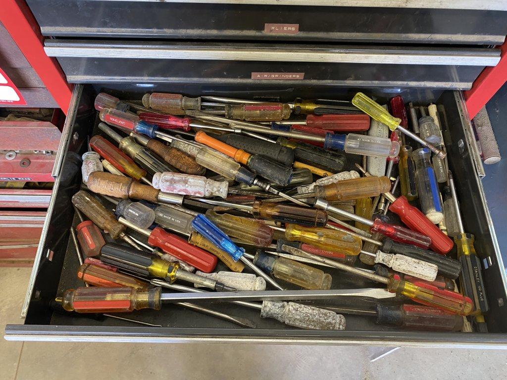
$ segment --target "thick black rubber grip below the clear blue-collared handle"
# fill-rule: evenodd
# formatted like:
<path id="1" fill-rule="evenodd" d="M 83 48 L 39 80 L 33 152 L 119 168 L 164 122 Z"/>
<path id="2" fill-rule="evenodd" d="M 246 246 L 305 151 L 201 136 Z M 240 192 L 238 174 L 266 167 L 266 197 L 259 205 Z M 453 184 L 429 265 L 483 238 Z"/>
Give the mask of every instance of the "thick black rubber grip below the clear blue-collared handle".
<path id="1" fill-rule="evenodd" d="M 332 173 L 343 171 L 347 165 L 345 155 L 304 142 L 298 143 L 294 148 L 294 159 Z"/>

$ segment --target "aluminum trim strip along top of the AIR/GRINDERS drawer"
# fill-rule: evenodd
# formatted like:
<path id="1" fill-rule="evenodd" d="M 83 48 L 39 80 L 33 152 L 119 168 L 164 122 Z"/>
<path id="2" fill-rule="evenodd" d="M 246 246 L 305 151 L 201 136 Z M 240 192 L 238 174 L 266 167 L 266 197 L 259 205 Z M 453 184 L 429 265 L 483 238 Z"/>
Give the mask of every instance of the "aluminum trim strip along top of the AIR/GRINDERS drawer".
<path id="1" fill-rule="evenodd" d="M 376 63 L 453 66 L 495 66 L 500 60 L 499 50 L 493 49 L 338 49 L 301 46 L 82 46 L 89 43 L 46 42 L 44 50 L 50 57 L 80 58 L 134 58 L 134 59 L 194 59 L 220 61 L 268 61 L 268 62 L 327 62 L 327 63 Z M 60 46 L 58 46 L 60 45 Z M 62 46 L 66 45 L 66 46 Z M 81 46 L 80 46 L 81 45 Z"/>

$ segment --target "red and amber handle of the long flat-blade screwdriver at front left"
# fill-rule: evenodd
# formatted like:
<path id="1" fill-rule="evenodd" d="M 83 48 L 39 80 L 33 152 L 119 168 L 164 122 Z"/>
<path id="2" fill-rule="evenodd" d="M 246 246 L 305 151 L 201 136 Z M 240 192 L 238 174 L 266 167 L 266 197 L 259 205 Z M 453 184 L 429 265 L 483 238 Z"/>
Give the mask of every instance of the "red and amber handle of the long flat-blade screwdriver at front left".
<path id="1" fill-rule="evenodd" d="M 137 291 L 134 288 L 83 287 L 63 293 L 62 307 L 77 313 L 129 313 L 140 309 L 160 310 L 161 288 Z"/>

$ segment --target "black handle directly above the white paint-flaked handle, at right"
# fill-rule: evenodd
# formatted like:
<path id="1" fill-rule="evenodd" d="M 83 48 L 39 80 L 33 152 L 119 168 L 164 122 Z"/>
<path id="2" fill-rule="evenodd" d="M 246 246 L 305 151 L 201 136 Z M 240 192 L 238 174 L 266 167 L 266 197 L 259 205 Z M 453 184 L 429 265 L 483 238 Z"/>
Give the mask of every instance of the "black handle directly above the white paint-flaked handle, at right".
<path id="1" fill-rule="evenodd" d="M 439 267 L 439 275 L 452 280 L 456 280 L 461 272 L 461 264 L 458 260 L 413 245 L 396 243 L 389 238 L 384 239 L 382 242 L 382 251 L 397 253 L 435 264 Z"/>

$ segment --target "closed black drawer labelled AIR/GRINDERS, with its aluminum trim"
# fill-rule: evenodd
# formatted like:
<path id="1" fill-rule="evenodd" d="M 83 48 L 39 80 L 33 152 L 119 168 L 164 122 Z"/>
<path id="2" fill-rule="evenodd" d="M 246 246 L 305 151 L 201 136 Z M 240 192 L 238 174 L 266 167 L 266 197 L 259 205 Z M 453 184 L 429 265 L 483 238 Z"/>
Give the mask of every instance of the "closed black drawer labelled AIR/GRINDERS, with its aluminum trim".
<path id="1" fill-rule="evenodd" d="M 47 40 L 71 83 L 469 89 L 497 49 Z"/>

